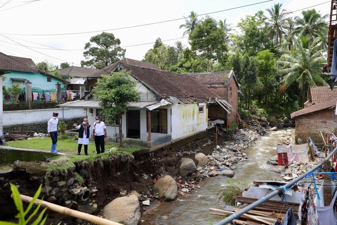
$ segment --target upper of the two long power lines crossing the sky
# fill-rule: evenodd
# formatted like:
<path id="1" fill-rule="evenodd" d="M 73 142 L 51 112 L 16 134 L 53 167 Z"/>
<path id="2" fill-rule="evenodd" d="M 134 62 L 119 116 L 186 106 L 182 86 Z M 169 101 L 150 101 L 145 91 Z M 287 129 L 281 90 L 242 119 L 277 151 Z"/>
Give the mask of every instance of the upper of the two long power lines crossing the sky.
<path id="1" fill-rule="evenodd" d="M 36 1 L 39 1 L 39 0 L 36 0 Z M 259 2 L 259 3 L 254 3 L 254 4 L 239 6 L 239 7 L 234 7 L 234 8 L 220 10 L 220 11 L 211 12 L 211 13 L 200 14 L 200 15 L 197 15 L 197 16 L 205 16 L 205 15 L 209 15 L 209 14 L 220 13 L 220 12 L 225 12 L 225 11 L 229 11 L 229 10 L 235 10 L 235 9 L 239 9 L 239 8 L 244 8 L 244 7 L 248 7 L 248 6 L 259 5 L 259 4 L 262 4 L 262 3 L 267 3 L 267 2 L 272 2 L 272 1 L 274 1 L 274 0 L 266 0 L 264 2 Z M 191 16 L 189 16 L 189 17 L 191 17 Z M 185 18 L 177 18 L 177 19 L 172 19 L 172 20 L 165 20 L 165 21 L 153 22 L 153 23 L 148 23 L 148 24 L 140 24 L 140 25 L 134 25 L 134 26 L 129 26 L 129 27 L 120 27 L 120 28 L 112 28 L 112 29 L 106 29 L 106 30 L 75 32 L 75 33 L 62 33 L 62 34 L 12 34 L 12 33 L 3 33 L 3 34 L 7 34 L 7 35 L 22 35 L 22 36 L 58 36 L 58 35 L 88 34 L 88 33 L 97 33 L 97 32 L 103 32 L 103 31 L 113 31 L 113 30 L 122 30 L 122 29 L 129 29 L 129 28 L 135 28 L 135 27 L 143 27 L 143 26 L 148 26 L 148 25 L 153 25 L 153 24 L 167 23 L 167 22 L 172 22 L 172 21 L 177 21 L 177 20 L 185 20 Z"/>

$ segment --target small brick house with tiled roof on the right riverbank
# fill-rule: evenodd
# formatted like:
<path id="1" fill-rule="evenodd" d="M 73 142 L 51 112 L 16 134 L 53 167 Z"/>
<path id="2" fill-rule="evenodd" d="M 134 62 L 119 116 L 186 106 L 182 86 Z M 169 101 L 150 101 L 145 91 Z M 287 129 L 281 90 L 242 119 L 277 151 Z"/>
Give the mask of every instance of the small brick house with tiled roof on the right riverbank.
<path id="1" fill-rule="evenodd" d="M 309 100 L 306 107 L 293 112 L 290 117 L 295 119 L 295 139 L 297 143 L 306 142 L 308 137 L 315 143 L 322 143 L 323 137 L 337 133 L 336 88 L 310 87 Z"/>

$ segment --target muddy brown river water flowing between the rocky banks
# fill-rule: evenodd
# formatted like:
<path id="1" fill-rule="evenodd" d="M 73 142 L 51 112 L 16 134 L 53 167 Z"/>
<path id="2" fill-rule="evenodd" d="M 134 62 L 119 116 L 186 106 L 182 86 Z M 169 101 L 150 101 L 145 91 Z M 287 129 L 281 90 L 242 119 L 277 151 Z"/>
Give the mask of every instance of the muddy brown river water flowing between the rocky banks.
<path id="1" fill-rule="evenodd" d="M 236 164 L 233 181 L 279 180 L 279 174 L 269 171 L 274 166 L 266 162 L 277 154 L 276 145 L 283 143 L 285 136 L 289 136 L 286 130 L 267 132 L 247 148 L 248 160 Z M 160 203 L 150 212 L 145 211 L 139 224 L 214 224 L 221 218 L 209 215 L 209 208 L 224 208 L 216 190 L 226 184 L 227 178 L 223 176 L 207 178 L 189 196 L 180 196 L 173 202 Z"/>

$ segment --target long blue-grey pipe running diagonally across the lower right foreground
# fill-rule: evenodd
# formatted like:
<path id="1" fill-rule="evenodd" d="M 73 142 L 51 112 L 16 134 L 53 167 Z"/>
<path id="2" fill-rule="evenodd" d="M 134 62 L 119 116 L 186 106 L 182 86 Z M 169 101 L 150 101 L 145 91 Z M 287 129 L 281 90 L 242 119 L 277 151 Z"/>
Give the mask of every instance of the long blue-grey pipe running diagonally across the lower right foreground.
<path id="1" fill-rule="evenodd" d="M 317 164 L 314 168 L 312 168 L 311 170 L 307 171 L 306 173 L 302 174 L 301 176 L 297 177 L 296 179 L 294 179 L 293 181 L 287 183 L 286 185 L 282 186 L 284 188 L 290 188 L 292 187 L 294 184 L 296 184 L 298 181 L 302 180 L 303 178 L 305 178 L 308 174 L 311 174 L 313 171 L 317 170 L 318 168 L 320 168 L 323 163 L 327 162 L 332 156 L 333 154 L 335 154 L 337 151 L 337 147 L 335 147 L 333 149 L 333 151 L 330 153 L 330 155 L 328 155 L 324 160 L 322 160 L 319 164 Z M 272 193 L 266 195 L 263 198 L 260 198 L 259 200 L 257 200 L 254 203 L 251 203 L 250 205 L 248 205 L 247 207 L 241 209 L 238 212 L 235 212 L 233 214 L 231 214 L 230 216 L 226 217 L 225 219 L 222 219 L 221 221 L 215 223 L 215 225 L 223 225 L 223 224 L 227 224 L 228 222 L 231 222 L 233 219 L 237 219 L 240 215 L 248 212 L 251 209 L 254 209 L 255 207 L 257 207 L 258 205 L 261 205 L 262 203 L 264 203 L 265 201 L 267 201 L 268 199 L 274 197 L 275 195 L 278 195 L 280 193 L 280 190 L 275 190 Z"/>

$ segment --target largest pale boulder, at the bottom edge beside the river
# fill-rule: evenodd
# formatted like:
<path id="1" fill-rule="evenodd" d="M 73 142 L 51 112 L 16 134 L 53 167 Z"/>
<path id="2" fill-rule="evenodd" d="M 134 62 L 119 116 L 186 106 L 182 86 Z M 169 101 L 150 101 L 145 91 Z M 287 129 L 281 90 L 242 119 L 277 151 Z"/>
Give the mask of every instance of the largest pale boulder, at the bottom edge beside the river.
<path id="1" fill-rule="evenodd" d="M 140 205 L 137 196 L 115 198 L 107 204 L 103 213 L 106 219 L 127 225 L 137 225 L 140 219 Z"/>

